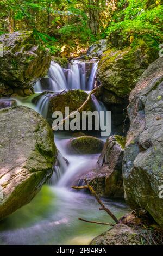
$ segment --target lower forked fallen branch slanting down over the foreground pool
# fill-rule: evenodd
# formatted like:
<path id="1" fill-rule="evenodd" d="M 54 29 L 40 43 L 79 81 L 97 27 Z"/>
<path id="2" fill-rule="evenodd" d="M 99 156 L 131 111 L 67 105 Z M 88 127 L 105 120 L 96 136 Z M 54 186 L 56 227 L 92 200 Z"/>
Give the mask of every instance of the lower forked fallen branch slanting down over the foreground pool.
<path id="1" fill-rule="evenodd" d="M 116 224 L 120 223 L 118 221 L 118 219 L 116 218 L 116 216 L 108 209 L 106 208 L 106 206 L 103 204 L 103 202 L 100 200 L 99 196 L 96 194 L 95 190 L 93 190 L 92 186 L 89 184 L 89 182 L 87 182 L 87 180 L 84 180 L 86 185 L 85 186 L 72 186 L 72 188 L 74 188 L 75 190 L 81 190 L 81 189 L 85 189 L 88 188 L 91 192 L 91 194 L 93 194 L 93 196 L 96 198 L 97 202 L 102 206 L 101 208 L 99 208 L 99 210 L 104 210 L 107 212 L 107 214 L 110 215 L 110 217 L 115 221 Z"/>

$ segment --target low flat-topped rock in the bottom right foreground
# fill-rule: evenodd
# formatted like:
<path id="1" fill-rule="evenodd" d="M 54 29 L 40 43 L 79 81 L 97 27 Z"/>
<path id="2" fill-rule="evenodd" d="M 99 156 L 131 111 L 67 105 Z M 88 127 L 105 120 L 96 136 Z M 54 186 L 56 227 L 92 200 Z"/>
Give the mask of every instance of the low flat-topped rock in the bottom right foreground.
<path id="1" fill-rule="evenodd" d="M 110 230 L 95 237 L 90 245 L 149 245 L 150 231 L 124 224 L 117 224 Z"/>

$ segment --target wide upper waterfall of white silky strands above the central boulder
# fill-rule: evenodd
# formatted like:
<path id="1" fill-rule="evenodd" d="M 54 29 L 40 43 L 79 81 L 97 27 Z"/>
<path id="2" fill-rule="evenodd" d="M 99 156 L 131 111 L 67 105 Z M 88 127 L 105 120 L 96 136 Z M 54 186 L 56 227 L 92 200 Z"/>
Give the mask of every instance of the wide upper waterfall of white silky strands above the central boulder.
<path id="1" fill-rule="evenodd" d="M 72 61 L 68 69 L 61 68 L 58 63 L 51 62 L 48 72 L 47 86 L 42 86 L 41 81 L 34 86 L 35 93 L 40 93 L 45 90 L 59 92 L 65 89 L 81 89 L 92 90 L 95 84 L 97 62 L 91 63 L 91 71 L 89 77 L 86 77 L 86 63 Z"/>

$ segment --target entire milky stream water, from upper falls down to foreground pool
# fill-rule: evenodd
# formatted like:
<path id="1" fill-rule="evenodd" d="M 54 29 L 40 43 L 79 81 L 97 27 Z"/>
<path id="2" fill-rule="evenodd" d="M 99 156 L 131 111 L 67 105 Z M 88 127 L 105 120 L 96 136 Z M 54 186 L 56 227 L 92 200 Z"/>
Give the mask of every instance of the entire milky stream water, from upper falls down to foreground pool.
<path id="1" fill-rule="evenodd" d="M 32 99 L 45 90 L 58 92 L 65 89 L 90 91 L 95 83 L 97 63 L 92 64 L 89 77 L 86 64 L 74 61 L 68 69 L 62 69 L 52 62 L 48 82 L 37 82 L 35 94 L 25 99 L 14 98 L 17 105 L 35 109 L 46 117 L 48 97 L 43 95 L 37 105 Z M 106 111 L 95 96 L 92 101 L 97 111 Z M 109 226 L 79 221 L 85 218 L 92 221 L 112 222 L 104 211 L 99 211 L 96 199 L 89 193 L 71 190 L 77 174 L 95 168 L 99 154 L 72 155 L 68 153 L 68 141 L 72 136 L 65 132 L 55 133 L 55 144 L 59 150 L 57 164 L 52 178 L 28 205 L 23 206 L 0 222 L 1 245 L 88 245 L 93 237 L 108 230 Z M 121 200 L 103 199 L 117 218 L 129 211 Z"/>

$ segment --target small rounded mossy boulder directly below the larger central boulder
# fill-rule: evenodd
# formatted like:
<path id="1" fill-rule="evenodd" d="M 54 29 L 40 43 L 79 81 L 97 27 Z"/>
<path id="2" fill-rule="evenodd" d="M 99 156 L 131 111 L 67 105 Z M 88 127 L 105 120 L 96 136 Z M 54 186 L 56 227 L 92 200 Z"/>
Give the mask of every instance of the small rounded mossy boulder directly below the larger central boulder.
<path id="1" fill-rule="evenodd" d="M 101 153 L 104 142 L 93 136 L 79 136 L 70 139 L 69 148 L 74 154 Z"/>

